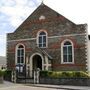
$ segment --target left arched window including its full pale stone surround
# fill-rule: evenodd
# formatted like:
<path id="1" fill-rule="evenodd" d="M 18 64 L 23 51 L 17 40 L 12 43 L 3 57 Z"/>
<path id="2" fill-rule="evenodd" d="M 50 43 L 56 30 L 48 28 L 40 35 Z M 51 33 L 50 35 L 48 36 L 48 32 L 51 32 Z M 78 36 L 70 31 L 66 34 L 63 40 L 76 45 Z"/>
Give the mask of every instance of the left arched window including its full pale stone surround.
<path id="1" fill-rule="evenodd" d="M 15 63 L 16 64 L 24 64 L 25 62 L 25 45 L 19 43 L 15 48 Z"/>

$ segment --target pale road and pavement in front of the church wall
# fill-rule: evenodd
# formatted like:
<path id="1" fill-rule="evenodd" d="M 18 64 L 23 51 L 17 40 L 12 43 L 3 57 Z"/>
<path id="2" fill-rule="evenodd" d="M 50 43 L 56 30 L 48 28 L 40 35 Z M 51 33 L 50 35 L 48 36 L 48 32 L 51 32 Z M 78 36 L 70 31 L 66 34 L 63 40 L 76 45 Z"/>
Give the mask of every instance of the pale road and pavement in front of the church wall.
<path id="1" fill-rule="evenodd" d="M 45 84 L 14 84 L 5 81 L 4 84 L 0 84 L 0 90 L 90 90 L 90 87 Z"/>

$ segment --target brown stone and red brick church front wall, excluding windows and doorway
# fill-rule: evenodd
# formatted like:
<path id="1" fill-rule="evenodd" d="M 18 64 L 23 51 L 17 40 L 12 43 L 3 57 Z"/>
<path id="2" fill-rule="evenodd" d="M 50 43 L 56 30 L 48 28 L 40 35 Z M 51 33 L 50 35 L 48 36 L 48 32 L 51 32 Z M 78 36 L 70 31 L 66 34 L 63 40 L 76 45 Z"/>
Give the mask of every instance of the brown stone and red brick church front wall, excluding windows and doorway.
<path id="1" fill-rule="evenodd" d="M 44 16 L 44 19 L 39 20 L 41 16 Z M 37 33 L 40 30 L 47 32 L 46 48 L 37 47 Z M 61 44 L 64 40 L 73 43 L 73 64 L 61 63 Z M 35 55 L 42 59 L 42 70 L 87 70 L 86 24 L 76 25 L 44 4 L 40 5 L 15 32 L 7 34 L 8 69 L 15 69 L 16 46 L 20 43 L 25 46 L 25 60 L 29 61 L 27 66 L 30 70 L 33 70 L 32 62 Z"/>

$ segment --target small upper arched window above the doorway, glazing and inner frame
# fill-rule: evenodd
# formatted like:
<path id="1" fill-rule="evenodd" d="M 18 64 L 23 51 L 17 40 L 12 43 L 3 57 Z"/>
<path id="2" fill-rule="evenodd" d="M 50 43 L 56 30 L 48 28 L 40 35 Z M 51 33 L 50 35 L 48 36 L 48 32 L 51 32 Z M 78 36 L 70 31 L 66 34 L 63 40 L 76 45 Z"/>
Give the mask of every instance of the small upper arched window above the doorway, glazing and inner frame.
<path id="1" fill-rule="evenodd" d="M 47 34 L 44 31 L 38 34 L 38 46 L 40 48 L 45 48 L 47 46 Z"/>

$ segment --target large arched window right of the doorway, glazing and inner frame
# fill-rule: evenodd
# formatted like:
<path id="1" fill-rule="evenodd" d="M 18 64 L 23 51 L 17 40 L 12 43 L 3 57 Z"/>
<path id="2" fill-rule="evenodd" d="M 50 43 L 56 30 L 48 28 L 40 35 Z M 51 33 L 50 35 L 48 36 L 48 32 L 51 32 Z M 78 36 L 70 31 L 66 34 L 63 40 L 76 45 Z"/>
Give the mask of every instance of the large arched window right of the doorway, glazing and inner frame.
<path id="1" fill-rule="evenodd" d="M 74 63 L 73 43 L 67 40 L 61 46 L 62 63 Z"/>

